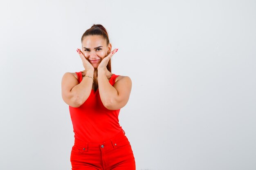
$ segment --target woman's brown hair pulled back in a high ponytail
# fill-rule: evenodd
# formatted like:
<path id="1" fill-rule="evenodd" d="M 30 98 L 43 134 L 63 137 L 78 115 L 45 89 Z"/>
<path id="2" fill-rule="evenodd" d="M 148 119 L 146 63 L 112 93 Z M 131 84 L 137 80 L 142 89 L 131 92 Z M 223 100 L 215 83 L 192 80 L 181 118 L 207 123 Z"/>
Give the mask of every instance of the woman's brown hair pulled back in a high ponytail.
<path id="1" fill-rule="evenodd" d="M 86 30 L 82 35 L 81 42 L 83 42 L 83 38 L 87 35 L 101 35 L 106 40 L 107 46 L 109 44 L 108 32 L 101 24 L 93 24 L 90 29 Z M 107 69 L 111 72 L 111 58 L 108 61 Z"/>

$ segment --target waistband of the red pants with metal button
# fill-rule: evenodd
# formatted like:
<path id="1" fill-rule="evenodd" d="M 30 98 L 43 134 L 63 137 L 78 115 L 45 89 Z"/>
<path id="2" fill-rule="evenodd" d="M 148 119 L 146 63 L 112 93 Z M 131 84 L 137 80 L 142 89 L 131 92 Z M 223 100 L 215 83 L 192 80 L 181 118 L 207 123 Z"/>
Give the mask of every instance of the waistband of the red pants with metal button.
<path id="1" fill-rule="evenodd" d="M 93 144 L 88 143 L 85 141 L 82 141 L 81 139 L 75 138 L 74 140 L 74 146 L 79 149 L 83 149 L 85 151 L 89 150 L 100 150 L 101 148 L 115 148 L 116 143 L 119 141 L 128 140 L 128 138 L 125 135 L 125 131 L 122 129 L 120 132 L 117 133 L 114 137 L 112 137 L 110 140 L 102 142 L 100 144 Z"/>

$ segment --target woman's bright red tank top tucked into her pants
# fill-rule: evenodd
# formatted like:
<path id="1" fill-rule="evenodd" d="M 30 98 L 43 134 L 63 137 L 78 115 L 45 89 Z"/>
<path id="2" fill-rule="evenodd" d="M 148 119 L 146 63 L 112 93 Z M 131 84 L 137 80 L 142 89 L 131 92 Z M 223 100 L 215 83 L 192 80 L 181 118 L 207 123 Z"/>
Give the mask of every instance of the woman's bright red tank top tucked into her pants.
<path id="1" fill-rule="evenodd" d="M 82 81 L 82 71 L 76 72 L 78 82 Z M 113 74 L 109 83 L 113 86 L 119 75 Z M 99 144 L 115 136 L 122 130 L 119 124 L 119 110 L 108 110 L 101 102 L 99 88 L 92 89 L 88 99 L 78 108 L 69 106 L 74 138 Z"/>

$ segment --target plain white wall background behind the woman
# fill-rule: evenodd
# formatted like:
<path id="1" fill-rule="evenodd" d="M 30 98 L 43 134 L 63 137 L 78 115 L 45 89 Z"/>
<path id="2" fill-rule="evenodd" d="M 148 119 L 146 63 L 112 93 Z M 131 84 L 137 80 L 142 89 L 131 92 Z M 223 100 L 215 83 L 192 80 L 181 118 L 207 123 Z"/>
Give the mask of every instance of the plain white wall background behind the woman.
<path id="1" fill-rule="evenodd" d="M 119 123 L 137 170 L 256 169 L 254 0 L 0 2 L 0 169 L 71 170 L 61 97 L 81 36 L 109 33 L 132 79 Z"/>

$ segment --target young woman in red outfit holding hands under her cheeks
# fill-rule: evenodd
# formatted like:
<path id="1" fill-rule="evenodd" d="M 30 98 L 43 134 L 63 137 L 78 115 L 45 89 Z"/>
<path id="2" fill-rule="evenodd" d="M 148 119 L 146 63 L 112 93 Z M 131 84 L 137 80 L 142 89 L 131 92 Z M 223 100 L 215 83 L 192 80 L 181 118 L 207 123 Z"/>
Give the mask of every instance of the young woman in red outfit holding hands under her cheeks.
<path id="1" fill-rule="evenodd" d="M 83 33 L 77 49 L 85 70 L 65 73 L 62 98 L 69 105 L 74 129 L 72 170 L 135 170 L 135 158 L 119 124 L 119 111 L 130 97 L 132 81 L 111 73 L 108 33 L 101 24 Z"/>

